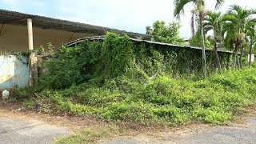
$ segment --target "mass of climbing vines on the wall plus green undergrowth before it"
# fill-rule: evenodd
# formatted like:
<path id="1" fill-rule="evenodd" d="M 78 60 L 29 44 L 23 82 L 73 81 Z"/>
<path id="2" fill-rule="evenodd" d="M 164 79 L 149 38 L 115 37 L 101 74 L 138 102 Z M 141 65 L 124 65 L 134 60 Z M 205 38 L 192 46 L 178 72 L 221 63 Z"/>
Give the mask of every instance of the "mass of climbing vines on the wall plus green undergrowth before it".
<path id="1" fill-rule="evenodd" d="M 143 125 L 223 124 L 245 106 L 254 106 L 256 69 L 226 70 L 204 80 L 193 75 L 185 79 L 177 71 L 182 76 L 193 73 L 178 58 L 186 59 L 183 54 L 188 53 L 191 59 L 187 62 L 195 60 L 192 64 L 197 67 L 196 62 L 202 62 L 198 61 L 201 50 L 186 49 L 182 56 L 172 57 L 178 51 L 185 50 L 147 47 L 126 36 L 108 34 L 103 42 L 62 48 L 46 62 L 47 72 L 38 87 L 18 93 L 36 94 L 24 103 L 27 109 Z M 228 59 L 229 55 L 224 58 Z"/>

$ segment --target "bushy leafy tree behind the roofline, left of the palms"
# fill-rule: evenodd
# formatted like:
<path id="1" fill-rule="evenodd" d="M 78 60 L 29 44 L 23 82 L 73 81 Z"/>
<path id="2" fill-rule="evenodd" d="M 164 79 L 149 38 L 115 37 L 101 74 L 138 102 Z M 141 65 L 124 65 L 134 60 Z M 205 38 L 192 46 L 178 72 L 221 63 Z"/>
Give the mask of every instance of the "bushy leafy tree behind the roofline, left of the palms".
<path id="1" fill-rule="evenodd" d="M 179 37 L 180 24 L 178 22 L 156 21 L 153 26 L 146 26 L 146 34 L 154 36 L 153 41 L 184 45 L 184 39 Z"/>

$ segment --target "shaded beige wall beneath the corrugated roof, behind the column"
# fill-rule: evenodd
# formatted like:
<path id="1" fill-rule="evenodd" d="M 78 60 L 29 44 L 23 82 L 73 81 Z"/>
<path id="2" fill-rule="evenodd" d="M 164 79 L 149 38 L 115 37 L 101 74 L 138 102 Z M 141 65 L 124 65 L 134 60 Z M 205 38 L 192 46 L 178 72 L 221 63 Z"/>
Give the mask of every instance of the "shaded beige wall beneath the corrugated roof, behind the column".
<path id="1" fill-rule="evenodd" d="M 0 29 L 1 27 L 2 24 L 0 24 Z M 33 27 L 33 33 L 34 49 L 41 45 L 46 48 L 47 42 L 52 42 L 56 48 L 59 48 L 66 42 L 70 42 L 78 38 L 95 36 L 95 34 L 72 33 L 68 31 L 42 29 L 37 27 Z M 0 51 L 29 50 L 27 37 L 26 26 L 4 24 L 0 34 Z"/>

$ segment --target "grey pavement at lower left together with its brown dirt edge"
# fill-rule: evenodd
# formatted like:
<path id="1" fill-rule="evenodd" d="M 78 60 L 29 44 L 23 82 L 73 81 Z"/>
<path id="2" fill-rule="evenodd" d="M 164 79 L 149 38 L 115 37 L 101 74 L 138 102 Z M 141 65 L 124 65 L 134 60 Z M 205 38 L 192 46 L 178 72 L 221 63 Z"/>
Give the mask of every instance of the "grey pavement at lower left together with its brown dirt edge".
<path id="1" fill-rule="evenodd" d="M 39 114 L 28 117 L 18 110 L 20 107 L 0 103 L 0 144 L 50 144 L 55 138 L 71 134 L 66 127 L 38 120 Z"/>

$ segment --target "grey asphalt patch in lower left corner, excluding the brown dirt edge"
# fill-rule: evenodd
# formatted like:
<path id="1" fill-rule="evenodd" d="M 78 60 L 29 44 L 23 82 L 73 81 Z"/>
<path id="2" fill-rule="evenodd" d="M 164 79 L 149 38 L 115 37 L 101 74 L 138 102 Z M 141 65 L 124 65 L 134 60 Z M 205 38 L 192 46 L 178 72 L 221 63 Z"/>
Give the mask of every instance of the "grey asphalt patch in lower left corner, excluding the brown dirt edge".
<path id="1" fill-rule="evenodd" d="M 0 118 L 1 144 L 49 144 L 54 138 L 69 135 L 65 128 L 36 120 Z"/>

